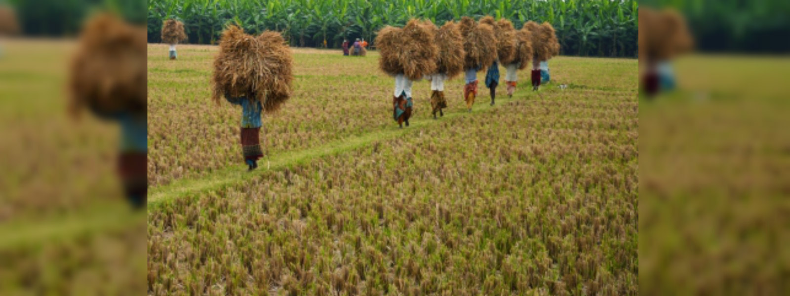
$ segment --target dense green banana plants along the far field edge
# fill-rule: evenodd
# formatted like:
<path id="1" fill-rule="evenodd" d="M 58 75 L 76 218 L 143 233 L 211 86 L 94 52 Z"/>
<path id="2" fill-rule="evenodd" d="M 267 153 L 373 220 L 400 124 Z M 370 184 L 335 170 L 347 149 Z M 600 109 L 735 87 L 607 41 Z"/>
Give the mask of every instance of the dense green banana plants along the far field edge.
<path id="1" fill-rule="evenodd" d="M 409 19 L 435 24 L 491 15 L 513 21 L 547 21 L 562 54 L 634 57 L 638 41 L 636 0 L 149 0 L 149 43 L 160 42 L 164 20 L 183 21 L 189 43 L 214 44 L 227 24 L 246 32 L 278 31 L 295 47 L 340 47 L 343 39 L 372 43 L 378 29 Z M 375 44 L 372 44 L 375 46 Z"/>

